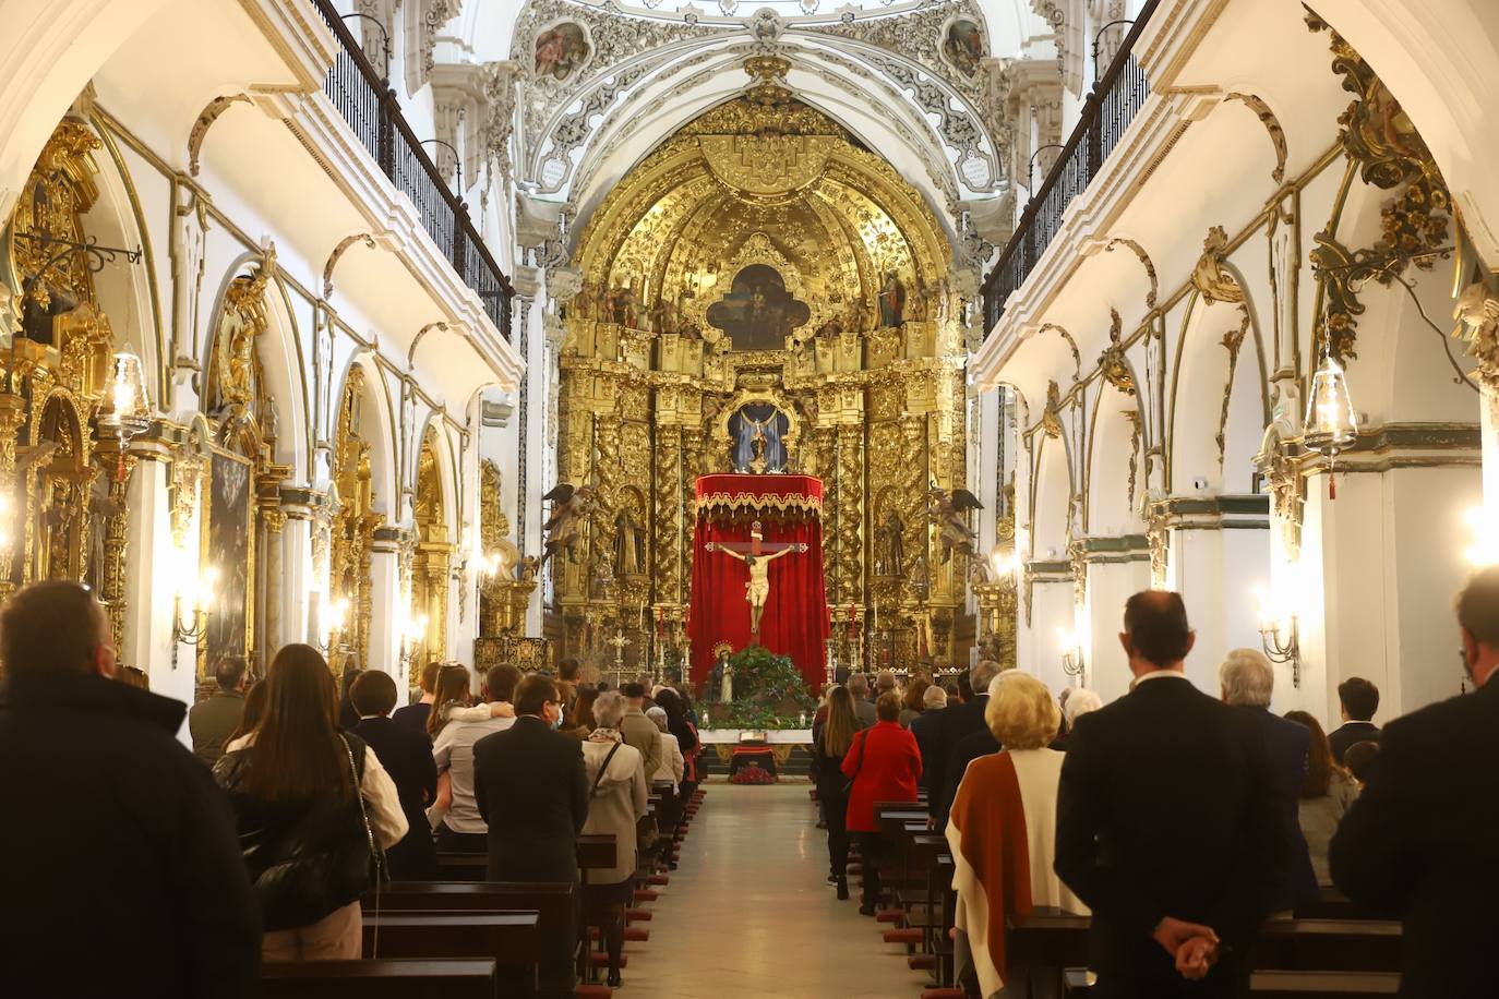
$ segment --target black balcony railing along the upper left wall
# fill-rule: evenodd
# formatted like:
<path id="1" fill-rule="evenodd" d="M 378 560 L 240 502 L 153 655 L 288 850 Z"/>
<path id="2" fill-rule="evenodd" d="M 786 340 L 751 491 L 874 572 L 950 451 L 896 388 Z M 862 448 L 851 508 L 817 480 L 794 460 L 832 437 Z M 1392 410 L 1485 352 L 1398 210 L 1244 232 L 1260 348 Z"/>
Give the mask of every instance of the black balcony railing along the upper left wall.
<path id="1" fill-rule="evenodd" d="M 331 0 L 313 1 L 342 46 L 322 82 L 328 99 L 354 129 L 364 150 L 379 163 L 381 172 L 396 190 L 411 198 L 427 235 L 463 283 L 484 303 L 484 312 L 495 327 L 510 340 L 510 297 L 514 294 L 510 279 L 490 256 L 469 219 L 468 207 L 448 190 L 442 174 L 402 117 L 396 93 L 366 58 Z"/>

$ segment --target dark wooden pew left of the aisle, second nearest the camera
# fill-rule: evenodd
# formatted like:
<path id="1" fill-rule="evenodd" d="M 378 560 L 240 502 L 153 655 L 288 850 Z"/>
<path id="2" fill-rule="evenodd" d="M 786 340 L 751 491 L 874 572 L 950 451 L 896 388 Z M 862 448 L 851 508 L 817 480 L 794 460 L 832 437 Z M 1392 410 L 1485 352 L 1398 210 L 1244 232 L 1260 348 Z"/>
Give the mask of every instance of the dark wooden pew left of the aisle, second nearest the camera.
<path id="1" fill-rule="evenodd" d="M 537 912 L 370 914 L 364 917 L 364 956 L 487 959 L 495 962 L 501 993 L 532 996 L 541 960 L 541 917 Z"/>

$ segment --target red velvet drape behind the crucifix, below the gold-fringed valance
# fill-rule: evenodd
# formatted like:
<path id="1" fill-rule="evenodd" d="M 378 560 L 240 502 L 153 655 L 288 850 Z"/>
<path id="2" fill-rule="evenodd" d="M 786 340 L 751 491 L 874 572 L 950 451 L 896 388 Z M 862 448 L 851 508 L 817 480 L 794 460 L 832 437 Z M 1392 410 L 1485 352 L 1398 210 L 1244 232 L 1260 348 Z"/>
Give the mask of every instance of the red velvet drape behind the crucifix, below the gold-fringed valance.
<path id="1" fill-rule="evenodd" d="M 727 641 L 739 652 L 750 644 L 750 602 L 745 584 L 750 568 L 723 551 L 706 551 L 709 541 L 750 544 L 750 517 L 715 517 L 703 511 L 693 535 L 693 602 L 688 637 L 693 641 L 693 681 L 702 683 L 714 668 L 714 647 Z M 779 656 L 790 656 L 808 689 L 823 686 L 827 638 L 827 599 L 823 593 L 823 526 L 817 515 L 761 520 L 764 541 L 805 542 L 770 563 L 770 596 L 760 619 L 760 643 Z"/>

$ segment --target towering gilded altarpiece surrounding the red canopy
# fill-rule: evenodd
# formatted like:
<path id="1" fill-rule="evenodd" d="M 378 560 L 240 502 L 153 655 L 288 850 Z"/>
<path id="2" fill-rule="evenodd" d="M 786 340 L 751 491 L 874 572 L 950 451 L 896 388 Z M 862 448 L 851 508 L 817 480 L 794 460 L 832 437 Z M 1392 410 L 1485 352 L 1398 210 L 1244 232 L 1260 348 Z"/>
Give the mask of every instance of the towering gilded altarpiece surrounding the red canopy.
<path id="1" fill-rule="evenodd" d="M 961 661 L 967 559 L 944 560 L 928 514 L 929 488 L 965 484 L 950 244 L 884 159 L 794 99 L 785 60 L 745 67 L 750 88 L 636 165 L 579 237 L 559 481 L 595 493 L 550 563 L 562 655 L 681 652 L 696 478 L 754 470 L 730 422 L 773 412 L 781 467 L 823 481 L 838 661 Z"/>

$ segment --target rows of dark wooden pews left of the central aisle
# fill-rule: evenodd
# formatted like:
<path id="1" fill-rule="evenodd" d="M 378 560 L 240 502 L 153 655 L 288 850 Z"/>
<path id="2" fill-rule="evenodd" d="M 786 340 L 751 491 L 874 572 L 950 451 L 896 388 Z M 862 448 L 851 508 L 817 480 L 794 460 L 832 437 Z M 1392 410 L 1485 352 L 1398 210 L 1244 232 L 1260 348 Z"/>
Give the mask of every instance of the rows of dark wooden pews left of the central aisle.
<path id="1" fill-rule="evenodd" d="M 649 939 L 637 923 L 651 918 L 645 902 L 667 884 L 694 801 L 681 801 L 670 783 L 651 791 L 642 819 L 636 908 L 625 939 Z M 649 833 L 651 836 L 646 836 Z M 579 872 L 616 866 L 613 836 L 580 836 Z M 346 962 L 270 962 L 261 969 L 267 999 L 609 999 L 597 984 L 607 966 L 598 914 L 583 909 L 574 885 L 484 881 L 487 861 L 474 854 L 439 854 L 439 881 L 390 882 L 363 899 L 364 957 Z M 570 932 L 568 927 L 576 927 Z M 598 941 L 595 950 L 594 942 Z M 583 984 L 579 984 L 579 983 Z"/>

